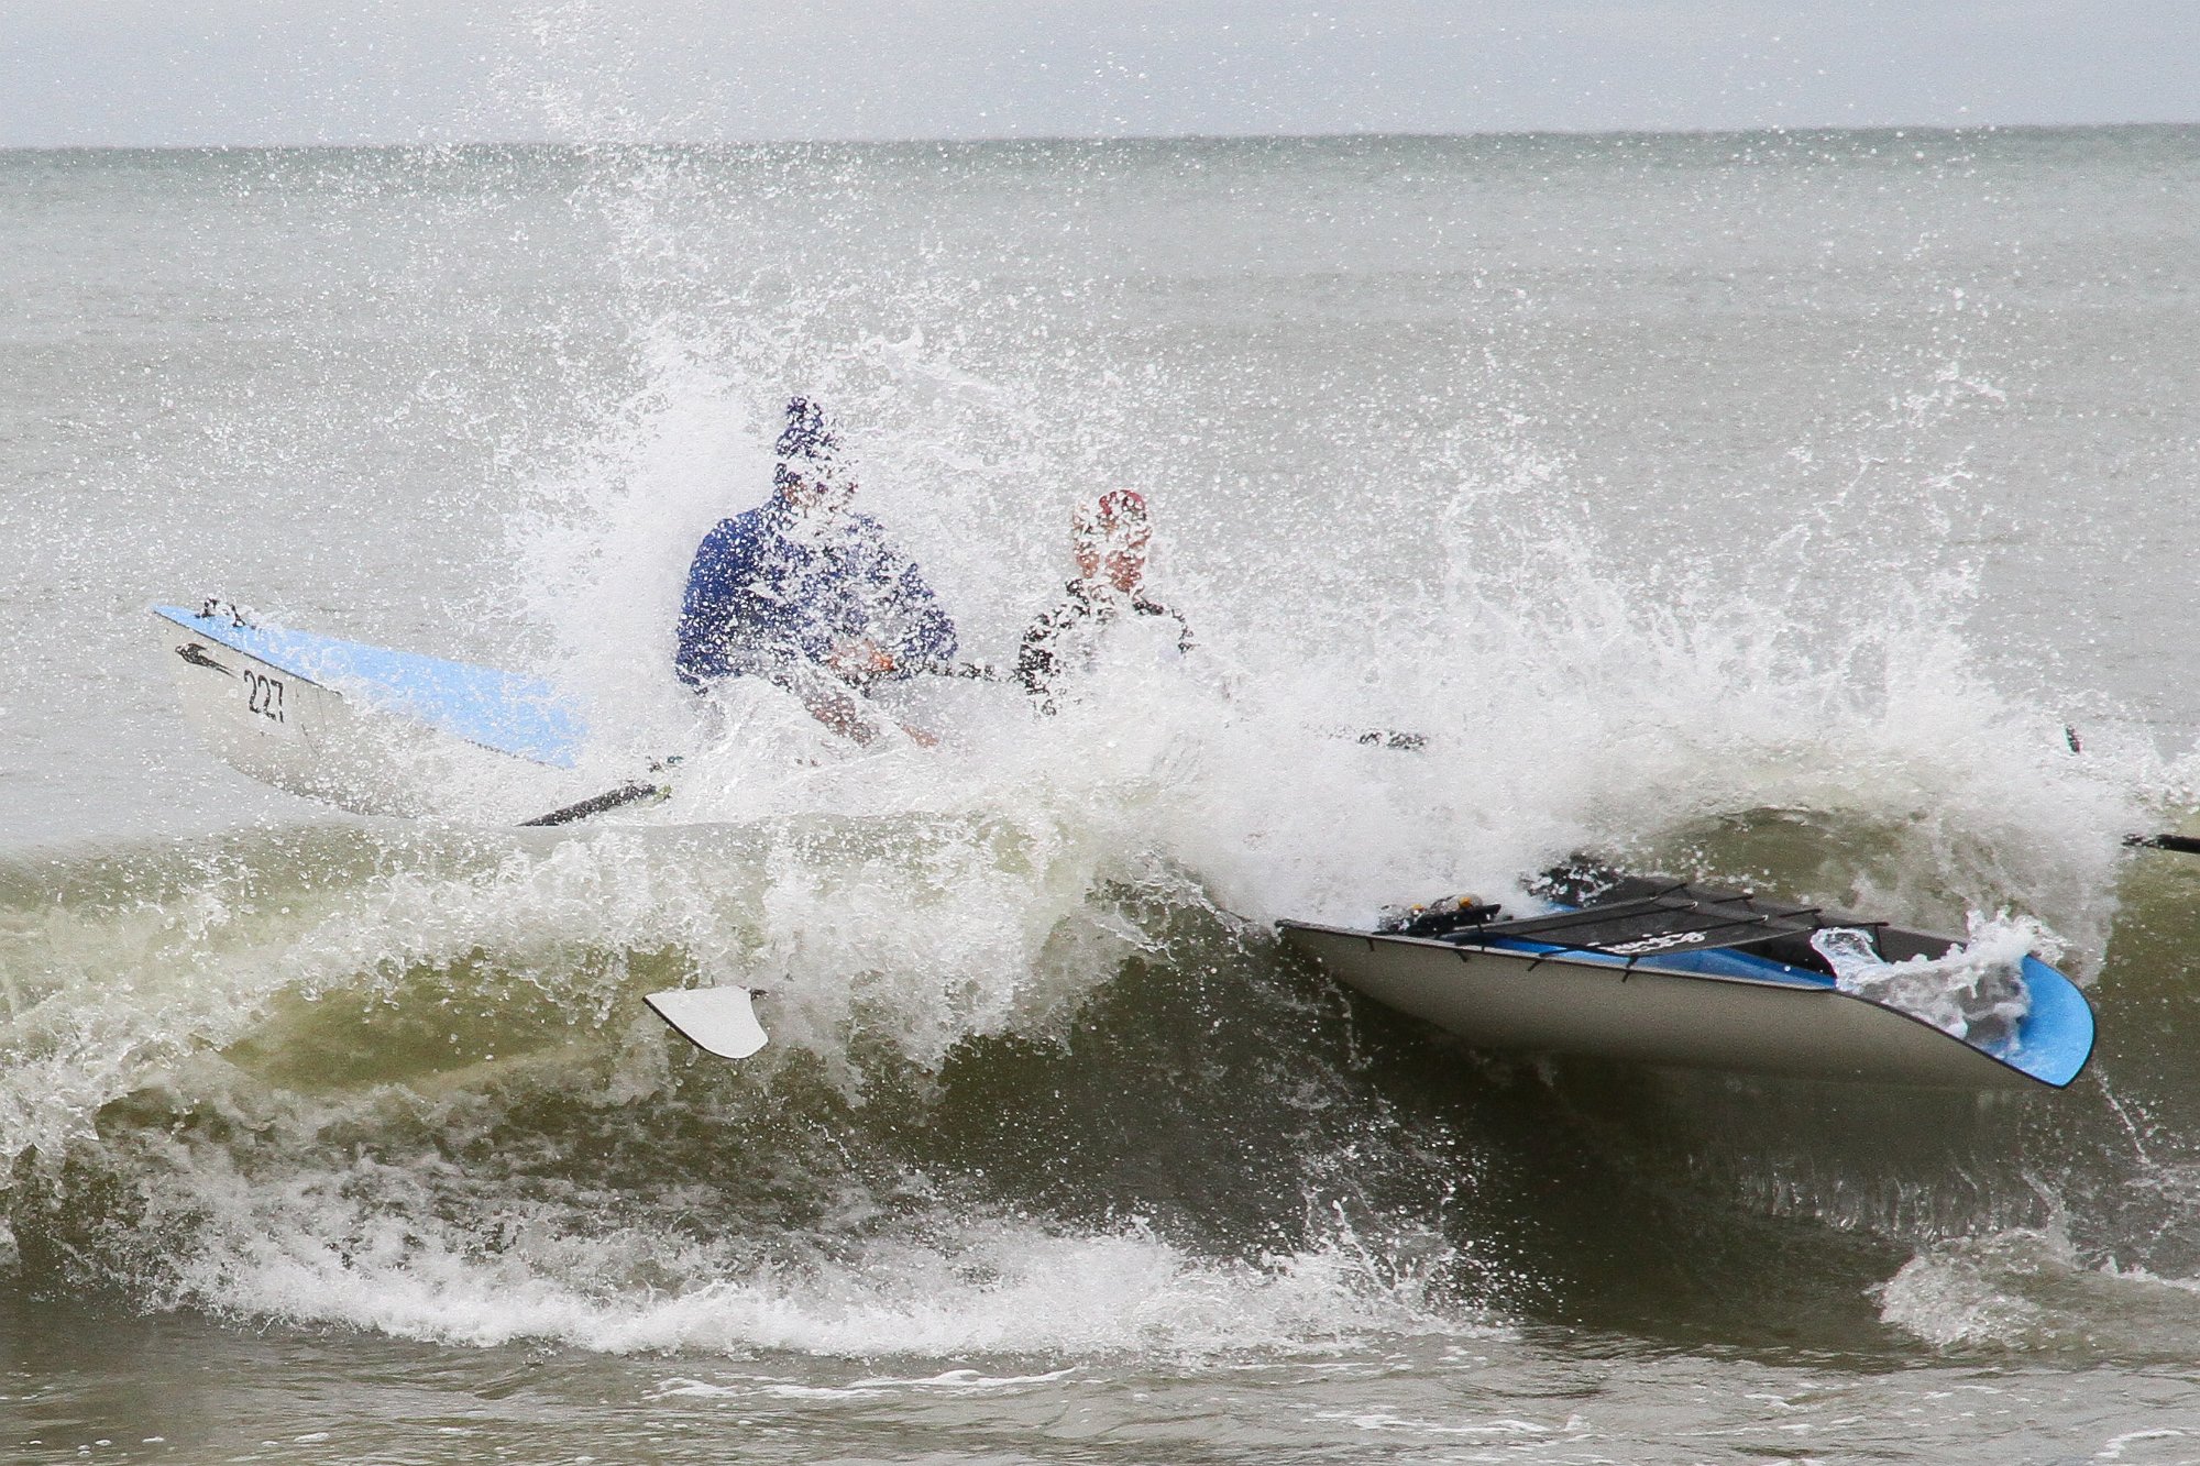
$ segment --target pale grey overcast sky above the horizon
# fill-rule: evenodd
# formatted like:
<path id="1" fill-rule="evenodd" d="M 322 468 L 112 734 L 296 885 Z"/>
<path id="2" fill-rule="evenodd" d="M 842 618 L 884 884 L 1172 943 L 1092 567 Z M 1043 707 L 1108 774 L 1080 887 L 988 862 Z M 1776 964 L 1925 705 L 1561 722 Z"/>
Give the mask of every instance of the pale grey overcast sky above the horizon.
<path id="1" fill-rule="evenodd" d="M 0 0 L 0 145 L 2200 121 L 2200 0 Z"/>

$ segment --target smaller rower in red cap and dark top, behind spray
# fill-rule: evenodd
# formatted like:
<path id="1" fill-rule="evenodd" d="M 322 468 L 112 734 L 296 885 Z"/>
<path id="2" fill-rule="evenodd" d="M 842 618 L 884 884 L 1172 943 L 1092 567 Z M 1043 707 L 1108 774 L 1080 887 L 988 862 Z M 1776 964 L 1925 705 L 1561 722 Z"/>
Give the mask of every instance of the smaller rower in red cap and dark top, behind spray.
<path id="1" fill-rule="evenodd" d="M 1192 649 L 1184 616 L 1146 594 L 1146 546 L 1153 524 L 1146 500 L 1135 489 L 1102 493 L 1098 504 L 1078 506 L 1071 517 L 1071 550 L 1078 579 L 1063 599 L 1041 612 L 1016 647 L 1016 680 L 1038 700 L 1038 711 L 1056 709 L 1058 682 L 1091 671 L 1100 638 L 1109 627 L 1153 616 L 1175 627 L 1177 652 Z"/>

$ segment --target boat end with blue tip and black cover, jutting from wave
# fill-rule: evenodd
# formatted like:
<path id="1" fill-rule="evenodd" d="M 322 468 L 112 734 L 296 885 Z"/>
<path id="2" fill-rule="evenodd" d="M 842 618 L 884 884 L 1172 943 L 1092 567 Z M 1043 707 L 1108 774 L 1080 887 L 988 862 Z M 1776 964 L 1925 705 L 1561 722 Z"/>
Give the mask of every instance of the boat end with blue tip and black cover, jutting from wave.
<path id="1" fill-rule="evenodd" d="M 1621 876 L 1511 920 L 1465 905 L 1278 929 L 1360 993 L 1489 1050 L 1956 1090 L 2061 1090 L 2092 1054 L 2092 1008 L 2037 955 L 1987 973 L 1956 938 L 1740 889 Z M 1940 977 L 1993 1002 L 1949 1019 L 1894 997 Z"/>

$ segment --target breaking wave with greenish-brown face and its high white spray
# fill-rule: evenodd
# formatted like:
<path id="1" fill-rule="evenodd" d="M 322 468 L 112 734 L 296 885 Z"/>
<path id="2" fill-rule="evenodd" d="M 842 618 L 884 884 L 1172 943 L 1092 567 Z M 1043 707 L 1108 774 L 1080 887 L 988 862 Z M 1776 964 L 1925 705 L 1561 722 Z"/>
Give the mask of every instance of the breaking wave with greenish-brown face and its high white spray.
<path id="1" fill-rule="evenodd" d="M 2189 891 L 2134 887 L 2119 847 L 2176 770 L 2112 718 L 2072 753 L 1969 630 L 1954 530 L 1991 381 L 1859 368 L 1896 405 L 1789 445 L 1760 497 L 1811 513 L 1731 533 L 1725 495 L 1630 504 L 1650 486 L 1551 447 L 1558 383 L 1529 363 L 1564 326 L 1474 269 L 1445 275 L 1467 337 L 1399 352 L 1346 282 L 1318 350 L 1274 343 L 1318 262 L 1089 264 L 1109 231 L 1133 258 L 1166 236 L 1122 200 L 1170 158 L 1049 154 L 1056 192 L 933 207 L 972 156 L 495 156 L 607 264 L 554 370 L 449 387 L 519 486 L 482 491 L 504 544 L 427 616 L 466 647 L 420 649 L 541 667 L 598 766 L 680 753 L 673 797 L 521 834 L 438 788 L 418 825 L 0 867 L 22 1279 L 447 1343 L 1212 1356 L 1654 1330 L 1652 1283 L 1762 1312 L 1718 1301 L 1725 1248 L 1780 1257 L 1844 1327 L 2026 1347 L 2061 1325 L 1962 1239 L 2059 1211 L 2068 1277 L 2178 1308 L 2191 1222 L 2127 1184 L 2193 1134 L 2171 1043 L 2108 1026 L 2108 1083 L 2053 1114 L 1522 1068 L 1267 933 L 1522 902 L 1595 850 L 1903 925 L 2006 911 L 2081 980 L 2158 973 L 2145 997 L 2187 1004 L 2163 953 Z M 1212 167 L 1263 196 L 1265 156 Z M 1019 253 L 1019 209 L 1085 231 L 1082 262 Z M 488 403 L 499 372 L 563 407 Z M 1199 649 L 1102 665 L 1045 720 L 935 689 L 913 715 L 939 748 L 697 704 L 667 676 L 686 557 L 761 497 L 794 390 L 847 425 L 865 506 L 972 658 L 1008 660 L 1067 575 L 1069 506 L 1118 484 L 1155 506 L 1155 583 Z M 640 1006 L 728 982 L 766 993 L 744 1065 Z M 1877 1305 L 1859 1272 L 1892 1279 Z"/>

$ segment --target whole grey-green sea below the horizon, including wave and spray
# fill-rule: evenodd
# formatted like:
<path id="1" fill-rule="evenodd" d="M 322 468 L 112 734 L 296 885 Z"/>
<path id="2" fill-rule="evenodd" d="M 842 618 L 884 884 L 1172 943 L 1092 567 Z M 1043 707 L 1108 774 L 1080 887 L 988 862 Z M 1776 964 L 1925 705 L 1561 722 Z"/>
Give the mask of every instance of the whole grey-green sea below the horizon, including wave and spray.
<path id="1" fill-rule="evenodd" d="M 2193 801 L 2196 192 L 2191 128 L 0 154 L 0 1453 L 2200 1459 L 2200 861 L 2121 847 Z M 1199 649 L 939 748 L 704 715 L 790 392 L 968 656 L 1109 486 Z M 202 594 L 675 795 L 255 786 Z M 1573 850 L 2037 920 L 2097 1061 L 1516 1063 L 1272 933 Z"/>

